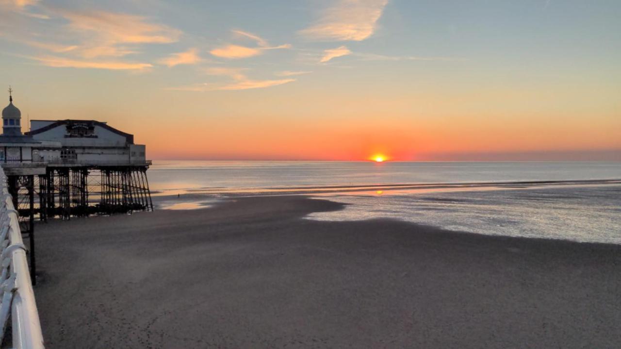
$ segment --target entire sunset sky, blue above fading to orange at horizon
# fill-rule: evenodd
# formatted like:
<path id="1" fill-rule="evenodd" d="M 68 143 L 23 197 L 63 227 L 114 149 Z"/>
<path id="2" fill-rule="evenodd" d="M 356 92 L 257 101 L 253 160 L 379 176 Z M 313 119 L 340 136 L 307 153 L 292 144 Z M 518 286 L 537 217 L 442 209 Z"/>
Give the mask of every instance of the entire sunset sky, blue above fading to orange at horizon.
<path id="1" fill-rule="evenodd" d="M 152 159 L 621 160 L 619 18 L 617 0 L 0 0 L 0 86 L 23 119 L 106 121 Z"/>

